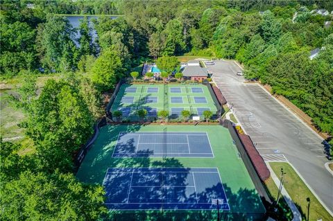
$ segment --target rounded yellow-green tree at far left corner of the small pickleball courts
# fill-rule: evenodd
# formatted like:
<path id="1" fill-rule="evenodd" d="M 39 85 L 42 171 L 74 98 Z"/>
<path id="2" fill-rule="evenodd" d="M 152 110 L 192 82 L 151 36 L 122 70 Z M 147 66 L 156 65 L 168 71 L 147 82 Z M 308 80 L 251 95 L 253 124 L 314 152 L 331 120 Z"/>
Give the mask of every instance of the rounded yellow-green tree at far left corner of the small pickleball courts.
<path id="1" fill-rule="evenodd" d="M 112 89 L 123 76 L 121 59 L 116 51 L 105 50 L 92 67 L 92 82 L 100 91 Z"/>

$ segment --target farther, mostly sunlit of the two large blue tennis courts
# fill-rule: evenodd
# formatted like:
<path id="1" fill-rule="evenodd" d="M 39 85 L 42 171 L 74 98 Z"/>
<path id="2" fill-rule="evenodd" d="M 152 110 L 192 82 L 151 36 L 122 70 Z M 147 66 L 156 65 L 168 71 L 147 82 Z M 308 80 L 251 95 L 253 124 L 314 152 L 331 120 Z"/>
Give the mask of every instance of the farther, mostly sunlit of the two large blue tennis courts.
<path id="1" fill-rule="evenodd" d="M 120 132 L 112 157 L 214 157 L 206 132 Z"/>

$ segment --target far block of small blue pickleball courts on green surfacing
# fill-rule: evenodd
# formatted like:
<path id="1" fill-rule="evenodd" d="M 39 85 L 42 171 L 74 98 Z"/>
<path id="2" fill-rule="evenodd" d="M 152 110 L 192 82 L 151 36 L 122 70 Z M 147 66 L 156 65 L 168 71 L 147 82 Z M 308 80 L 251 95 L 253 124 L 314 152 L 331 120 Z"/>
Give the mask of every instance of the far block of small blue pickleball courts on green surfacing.
<path id="1" fill-rule="evenodd" d="M 217 108 L 205 85 L 121 85 L 111 112 L 119 109 L 123 118 L 137 120 L 137 111 L 146 108 L 148 116 L 167 110 L 171 118 L 181 116 L 182 109 L 201 116 L 205 109 L 216 114 Z M 151 112 L 149 114 L 149 112 Z"/>

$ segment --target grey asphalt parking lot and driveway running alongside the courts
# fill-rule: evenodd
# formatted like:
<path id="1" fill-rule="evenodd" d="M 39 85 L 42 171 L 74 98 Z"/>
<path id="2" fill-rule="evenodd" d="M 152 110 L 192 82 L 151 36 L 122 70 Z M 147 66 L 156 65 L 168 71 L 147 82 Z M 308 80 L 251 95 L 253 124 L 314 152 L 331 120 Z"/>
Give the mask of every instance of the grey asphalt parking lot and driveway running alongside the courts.
<path id="1" fill-rule="evenodd" d="M 289 161 L 332 214 L 333 176 L 324 166 L 323 139 L 260 85 L 244 84 L 236 63 L 216 61 L 207 67 L 264 160 Z"/>

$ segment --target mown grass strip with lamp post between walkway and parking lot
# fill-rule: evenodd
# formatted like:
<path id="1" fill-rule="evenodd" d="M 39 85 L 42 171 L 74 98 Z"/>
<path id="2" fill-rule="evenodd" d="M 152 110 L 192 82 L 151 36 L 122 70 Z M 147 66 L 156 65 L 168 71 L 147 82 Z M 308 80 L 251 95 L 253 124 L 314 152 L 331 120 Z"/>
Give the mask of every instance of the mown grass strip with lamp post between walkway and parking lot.
<path id="1" fill-rule="evenodd" d="M 298 206 L 303 220 L 307 218 L 307 197 L 310 198 L 311 202 L 309 220 L 333 220 L 330 213 L 325 210 L 317 198 L 311 193 L 289 163 L 270 163 L 270 165 L 275 174 L 280 174 L 280 170 L 283 168 L 284 173 L 286 173 L 286 175 L 284 175 L 284 188 L 286 188 L 289 193 L 291 200 Z M 327 194 L 329 193 L 327 192 Z"/>

